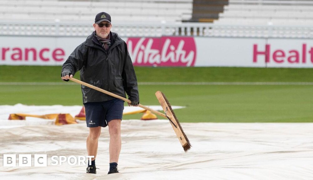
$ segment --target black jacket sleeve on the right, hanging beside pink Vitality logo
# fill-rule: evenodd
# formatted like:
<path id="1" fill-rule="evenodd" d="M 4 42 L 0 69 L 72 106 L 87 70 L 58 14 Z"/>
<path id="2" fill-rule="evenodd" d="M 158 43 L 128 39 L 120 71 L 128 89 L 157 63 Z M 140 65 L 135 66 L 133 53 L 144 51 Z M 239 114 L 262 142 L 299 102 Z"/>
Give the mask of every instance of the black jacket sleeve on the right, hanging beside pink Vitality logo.
<path id="1" fill-rule="evenodd" d="M 131 62 L 131 57 L 127 50 L 127 45 L 125 45 L 125 63 L 123 69 L 123 85 L 126 94 L 128 95 L 128 99 L 131 101 L 139 102 L 139 92 L 137 85 L 137 78 L 134 70 L 133 63 Z"/>

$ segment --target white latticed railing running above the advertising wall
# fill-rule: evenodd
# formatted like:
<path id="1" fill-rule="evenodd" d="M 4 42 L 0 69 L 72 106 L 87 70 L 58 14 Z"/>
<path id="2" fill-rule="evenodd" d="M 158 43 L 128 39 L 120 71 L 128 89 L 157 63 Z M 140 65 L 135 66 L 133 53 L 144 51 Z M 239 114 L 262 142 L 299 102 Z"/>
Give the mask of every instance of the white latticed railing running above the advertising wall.
<path id="1" fill-rule="evenodd" d="M 0 22 L 0 36 L 86 37 L 92 22 Z M 112 32 L 121 37 L 204 36 L 313 38 L 313 26 L 216 25 L 212 23 L 116 23 Z"/>

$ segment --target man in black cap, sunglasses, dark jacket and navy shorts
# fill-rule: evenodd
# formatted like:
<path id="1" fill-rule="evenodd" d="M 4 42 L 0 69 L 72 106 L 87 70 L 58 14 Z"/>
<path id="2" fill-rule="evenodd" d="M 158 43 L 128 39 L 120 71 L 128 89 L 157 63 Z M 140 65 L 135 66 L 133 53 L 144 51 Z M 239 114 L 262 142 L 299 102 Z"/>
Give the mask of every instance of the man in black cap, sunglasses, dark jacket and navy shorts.
<path id="1" fill-rule="evenodd" d="M 96 87 L 126 98 L 138 106 L 139 93 L 135 71 L 125 41 L 111 32 L 111 17 L 100 12 L 93 24 L 95 31 L 80 44 L 63 64 L 61 78 L 69 81 L 80 70 L 80 79 Z M 81 86 L 85 106 L 86 123 L 89 127 L 87 152 L 97 155 L 101 127 L 109 126 L 110 170 L 118 173 L 117 163 L 121 151 L 121 119 L 124 101 Z M 88 162 L 87 173 L 96 174 L 95 158 Z"/>

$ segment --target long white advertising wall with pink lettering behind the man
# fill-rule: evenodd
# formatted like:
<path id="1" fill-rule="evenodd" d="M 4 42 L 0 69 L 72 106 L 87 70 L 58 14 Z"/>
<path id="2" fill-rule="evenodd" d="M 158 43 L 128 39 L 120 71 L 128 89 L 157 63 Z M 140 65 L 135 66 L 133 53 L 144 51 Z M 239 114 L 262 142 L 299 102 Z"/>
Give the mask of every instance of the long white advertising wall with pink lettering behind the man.
<path id="1" fill-rule="evenodd" d="M 2 36 L 0 65 L 62 65 L 85 39 L 86 37 Z M 123 40 L 127 42 L 132 61 L 137 66 L 313 67 L 313 39 L 163 36 L 125 37 Z M 140 47 L 138 52 L 141 54 L 138 56 L 138 52 L 134 53 L 134 48 L 139 42 L 141 44 L 137 47 Z M 170 53 L 175 58 L 163 61 L 162 58 L 170 57 Z M 176 56 L 177 53 L 180 55 Z M 194 60 L 183 63 L 182 57 L 186 58 L 189 54 L 194 54 Z M 146 59 L 151 57 L 152 63 L 143 64 L 144 55 L 147 56 Z M 160 58 L 160 62 L 156 61 L 157 58 Z"/>

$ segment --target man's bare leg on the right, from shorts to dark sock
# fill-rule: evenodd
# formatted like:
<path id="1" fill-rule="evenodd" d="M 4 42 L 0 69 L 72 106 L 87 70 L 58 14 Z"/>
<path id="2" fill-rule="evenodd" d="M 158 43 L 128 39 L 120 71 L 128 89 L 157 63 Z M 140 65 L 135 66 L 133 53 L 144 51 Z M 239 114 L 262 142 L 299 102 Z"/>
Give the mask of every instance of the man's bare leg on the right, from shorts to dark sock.
<path id="1" fill-rule="evenodd" d="M 108 123 L 110 133 L 110 163 L 118 163 L 121 152 L 121 119 L 114 119 Z"/>

